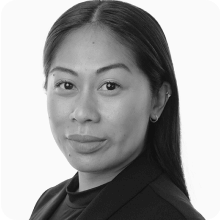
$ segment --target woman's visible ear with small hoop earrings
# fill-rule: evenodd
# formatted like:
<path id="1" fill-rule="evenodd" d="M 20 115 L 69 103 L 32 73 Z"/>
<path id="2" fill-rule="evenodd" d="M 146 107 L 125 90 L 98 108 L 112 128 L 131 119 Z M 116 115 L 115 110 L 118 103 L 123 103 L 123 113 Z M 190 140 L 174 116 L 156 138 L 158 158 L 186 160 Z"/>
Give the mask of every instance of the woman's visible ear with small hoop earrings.
<path id="1" fill-rule="evenodd" d="M 150 117 L 152 119 L 156 120 L 157 117 L 159 118 L 160 115 L 162 114 L 163 109 L 169 100 L 169 95 L 167 94 L 167 92 L 169 93 L 169 95 L 172 95 L 170 84 L 164 82 L 160 87 L 159 92 L 152 99 L 151 114 L 150 114 Z"/>

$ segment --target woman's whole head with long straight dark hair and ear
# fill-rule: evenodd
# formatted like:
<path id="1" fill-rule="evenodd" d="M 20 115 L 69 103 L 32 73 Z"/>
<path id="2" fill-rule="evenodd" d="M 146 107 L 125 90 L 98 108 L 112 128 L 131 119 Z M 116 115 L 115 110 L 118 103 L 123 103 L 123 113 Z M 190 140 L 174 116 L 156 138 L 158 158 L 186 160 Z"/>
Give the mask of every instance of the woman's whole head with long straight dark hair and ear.
<path id="1" fill-rule="evenodd" d="M 75 169 L 120 170 L 146 150 L 188 195 L 174 69 L 150 14 L 119 1 L 70 8 L 49 32 L 44 71 L 52 133 Z M 103 141 L 78 144 L 73 134 Z"/>

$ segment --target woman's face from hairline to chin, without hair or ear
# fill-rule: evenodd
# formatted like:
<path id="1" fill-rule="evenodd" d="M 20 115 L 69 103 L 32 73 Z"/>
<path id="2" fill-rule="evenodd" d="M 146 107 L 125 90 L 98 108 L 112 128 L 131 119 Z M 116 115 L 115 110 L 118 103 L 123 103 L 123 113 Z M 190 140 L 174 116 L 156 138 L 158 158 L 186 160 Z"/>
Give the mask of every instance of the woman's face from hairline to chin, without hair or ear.
<path id="1" fill-rule="evenodd" d="M 149 81 L 108 31 L 83 27 L 66 37 L 51 65 L 47 99 L 53 136 L 78 171 L 117 171 L 143 150 Z"/>

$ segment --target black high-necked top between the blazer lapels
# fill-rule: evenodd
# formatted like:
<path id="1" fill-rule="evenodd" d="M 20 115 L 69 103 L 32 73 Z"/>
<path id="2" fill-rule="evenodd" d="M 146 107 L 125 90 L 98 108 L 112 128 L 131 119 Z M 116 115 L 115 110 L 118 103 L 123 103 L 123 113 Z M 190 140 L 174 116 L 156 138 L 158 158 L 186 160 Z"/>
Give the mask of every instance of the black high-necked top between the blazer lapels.
<path id="1" fill-rule="evenodd" d="M 54 212 L 50 220 L 75 220 L 98 193 L 107 185 L 76 192 L 79 187 L 78 173 L 75 174 L 69 185 L 66 187 L 66 197 Z"/>

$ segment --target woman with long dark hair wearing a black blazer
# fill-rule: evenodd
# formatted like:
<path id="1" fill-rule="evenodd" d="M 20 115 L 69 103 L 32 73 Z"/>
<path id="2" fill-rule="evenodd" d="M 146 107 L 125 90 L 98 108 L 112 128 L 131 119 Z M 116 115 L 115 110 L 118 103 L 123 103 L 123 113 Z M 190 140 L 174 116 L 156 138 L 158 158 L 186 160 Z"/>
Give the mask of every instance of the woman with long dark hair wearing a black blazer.
<path id="1" fill-rule="evenodd" d="M 151 15 L 75 5 L 49 32 L 44 70 L 51 130 L 78 172 L 43 193 L 31 220 L 204 219 L 185 185 L 174 69 Z"/>

